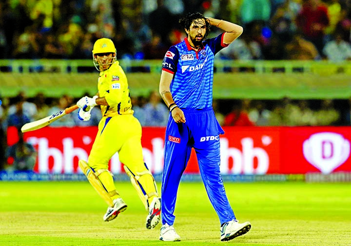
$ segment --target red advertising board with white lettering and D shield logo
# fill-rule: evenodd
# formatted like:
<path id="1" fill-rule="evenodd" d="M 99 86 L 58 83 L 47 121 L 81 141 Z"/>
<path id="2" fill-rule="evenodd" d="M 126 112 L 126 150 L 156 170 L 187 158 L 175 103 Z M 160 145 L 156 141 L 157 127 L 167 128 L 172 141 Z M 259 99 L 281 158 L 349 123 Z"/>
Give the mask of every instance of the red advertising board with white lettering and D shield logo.
<path id="1" fill-rule="evenodd" d="M 223 177 L 230 177 L 228 180 L 243 179 L 244 182 L 250 182 L 259 181 L 261 178 L 277 181 L 289 180 L 292 177 L 293 180 L 328 180 L 326 177 L 330 174 L 351 172 L 351 127 L 223 129 L 225 134 L 219 136 L 220 170 Z M 11 127 L 8 129 L 8 145 L 16 143 L 16 131 Z M 25 132 L 25 141 L 32 143 L 38 151 L 34 173 L 43 176 L 67 175 L 67 179 L 81 174 L 78 160 L 87 160 L 96 132 L 96 127 L 45 127 Z M 168 139 L 165 136 L 165 128 L 143 128 L 144 161 L 155 175 L 162 173 L 164 139 Z M 217 136 L 203 136 L 199 141 L 217 141 L 216 139 Z M 109 169 L 115 175 L 123 176 L 123 164 L 119 162 L 117 154 L 112 157 Z M 199 174 L 194 150 L 184 174 Z M 340 174 L 337 179 L 349 179 L 347 174 L 343 175 Z M 254 178 L 250 178 L 251 176 Z M 193 178 L 189 179 L 194 177 L 193 175 Z"/>

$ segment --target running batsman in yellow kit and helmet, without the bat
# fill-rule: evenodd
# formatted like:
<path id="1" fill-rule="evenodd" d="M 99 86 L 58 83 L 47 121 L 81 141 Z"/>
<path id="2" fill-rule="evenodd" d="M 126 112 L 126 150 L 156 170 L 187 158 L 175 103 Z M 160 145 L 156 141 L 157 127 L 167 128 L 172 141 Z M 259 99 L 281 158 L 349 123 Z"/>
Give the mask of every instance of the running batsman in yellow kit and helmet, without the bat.
<path id="1" fill-rule="evenodd" d="M 116 48 L 111 39 L 101 38 L 95 42 L 93 61 L 100 72 L 98 94 L 79 99 L 78 118 L 89 120 L 93 107 L 100 105 L 102 119 L 88 162 L 79 160 L 79 167 L 109 206 L 103 220 L 111 221 L 127 208 L 108 170 L 109 160 L 118 152 L 124 170 L 149 211 L 146 228 L 154 228 L 160 220 L 161 199 L 155 179 L 143 160 L 141 125 L 133 116 L 127 77 L 116 60 Z"/>

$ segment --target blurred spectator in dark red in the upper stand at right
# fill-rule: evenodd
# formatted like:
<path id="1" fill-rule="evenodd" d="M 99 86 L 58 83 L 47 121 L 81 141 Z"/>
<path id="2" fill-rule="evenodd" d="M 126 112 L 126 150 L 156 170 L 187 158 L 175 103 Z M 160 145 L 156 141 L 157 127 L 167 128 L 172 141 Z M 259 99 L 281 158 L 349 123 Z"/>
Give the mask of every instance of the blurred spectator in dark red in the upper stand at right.
<path id="1" fill-rule="evenodd" d="M 303 37 L 315 45 L 319 54 L 324 47 L 325 29 L 329 23 L 328 9 L 320 0 L 303 0 L 296 25 Z"/>

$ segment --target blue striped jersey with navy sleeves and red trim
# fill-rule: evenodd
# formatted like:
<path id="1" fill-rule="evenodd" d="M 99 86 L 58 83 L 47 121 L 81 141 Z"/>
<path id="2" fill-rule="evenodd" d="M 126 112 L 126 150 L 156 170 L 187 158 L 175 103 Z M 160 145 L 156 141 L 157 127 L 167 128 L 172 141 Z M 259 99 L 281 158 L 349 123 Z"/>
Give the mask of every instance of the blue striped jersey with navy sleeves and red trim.
<path id="1" fill-rule="evenodd" d="M 198 51 L 187 38 L 171 46 L 162 62 L 162 70 L 174 74 L 170 89 L 181 109 L 199 110 L 212 107 L 215 54 L 227 47 L 223 34 L 206 39 Z"/>

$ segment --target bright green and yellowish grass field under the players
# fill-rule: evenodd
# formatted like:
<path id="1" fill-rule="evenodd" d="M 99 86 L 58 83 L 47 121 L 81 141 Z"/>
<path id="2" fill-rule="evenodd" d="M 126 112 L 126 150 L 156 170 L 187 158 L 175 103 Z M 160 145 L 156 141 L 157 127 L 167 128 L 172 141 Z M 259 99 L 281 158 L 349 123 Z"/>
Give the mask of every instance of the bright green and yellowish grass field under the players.
<path id="1" fill-rule="evenodd" d="M 158 184 L 160 185 L 160 184 Z M 0 182 L 1 246 L 347 246 L 351 245 L 351 184 L 225 183 L 240 221 L 252 229 L 219 241 L 219 220 L 202 183 L 181 183 L 175 228 L 181 242 L 147 230 L 130 183 L 116 182 L 126 211 L 103 222 L 106 204 L 88 182 Z"/>

